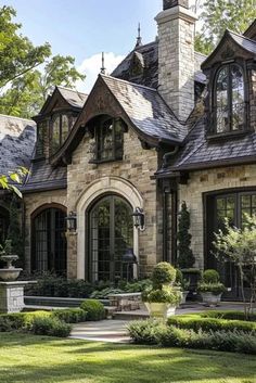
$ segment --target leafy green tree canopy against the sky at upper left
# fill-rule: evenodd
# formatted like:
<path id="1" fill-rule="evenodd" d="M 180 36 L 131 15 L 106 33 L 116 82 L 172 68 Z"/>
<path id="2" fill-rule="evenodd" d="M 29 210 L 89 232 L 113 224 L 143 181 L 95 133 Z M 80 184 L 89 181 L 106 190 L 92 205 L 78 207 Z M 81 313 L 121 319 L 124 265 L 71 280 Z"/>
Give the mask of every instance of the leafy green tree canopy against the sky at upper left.
<path id="1" fill-rule="evenodd" d="M 13 8 L 0 8 L 0 113 L 30 118 L 54 85 L 74 88 L 85 76 L 76 69 L 74 58 L 51 58 L 48 42 L 34 47 L 21 35 L 21 24 L 13 22 L 15 15 Z"/>

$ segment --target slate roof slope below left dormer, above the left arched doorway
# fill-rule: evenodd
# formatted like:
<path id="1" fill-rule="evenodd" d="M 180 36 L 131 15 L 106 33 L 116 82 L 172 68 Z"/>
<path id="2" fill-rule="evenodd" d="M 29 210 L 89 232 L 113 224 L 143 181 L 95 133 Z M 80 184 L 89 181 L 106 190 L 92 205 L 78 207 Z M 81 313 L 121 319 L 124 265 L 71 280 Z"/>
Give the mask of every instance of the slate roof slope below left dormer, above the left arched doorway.
<path id="1" fill-rule="evenodd" d="M 52 167 L 44 159 L 31 163 L 29 176 L 22 187 L 22 192 L 35 192 L 49 189 L 66 188 L 66 167 Z"/>

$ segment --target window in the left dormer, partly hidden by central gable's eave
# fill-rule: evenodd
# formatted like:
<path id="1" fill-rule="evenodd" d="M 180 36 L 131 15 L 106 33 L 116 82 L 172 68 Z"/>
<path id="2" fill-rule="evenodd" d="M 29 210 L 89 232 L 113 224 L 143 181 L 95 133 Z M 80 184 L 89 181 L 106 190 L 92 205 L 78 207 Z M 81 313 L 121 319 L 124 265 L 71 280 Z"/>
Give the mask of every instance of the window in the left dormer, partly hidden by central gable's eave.
<path id="1" fill-rule="evenodd" d="M 72 127 L 72 117 L 66 114 L 54 115 L 51 124 L 50 154 L 54 154 L 65 142 Z"/>

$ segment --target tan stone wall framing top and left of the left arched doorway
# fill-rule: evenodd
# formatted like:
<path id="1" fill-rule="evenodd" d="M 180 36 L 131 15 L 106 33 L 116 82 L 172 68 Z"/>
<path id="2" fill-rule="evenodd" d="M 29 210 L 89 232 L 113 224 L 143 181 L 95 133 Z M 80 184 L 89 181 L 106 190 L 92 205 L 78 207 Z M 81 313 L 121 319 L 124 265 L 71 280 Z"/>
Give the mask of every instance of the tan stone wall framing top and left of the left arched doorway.
<path id="1" fill-rule="evenodd" d="M 31 254 L 31 215 L 41 206 L 49 204 L 67 205 L 66 190 L 49 190 L 47 192 L 29 193 L 23 196 L 25 204 L 25 269 L 30 271 Z"/>

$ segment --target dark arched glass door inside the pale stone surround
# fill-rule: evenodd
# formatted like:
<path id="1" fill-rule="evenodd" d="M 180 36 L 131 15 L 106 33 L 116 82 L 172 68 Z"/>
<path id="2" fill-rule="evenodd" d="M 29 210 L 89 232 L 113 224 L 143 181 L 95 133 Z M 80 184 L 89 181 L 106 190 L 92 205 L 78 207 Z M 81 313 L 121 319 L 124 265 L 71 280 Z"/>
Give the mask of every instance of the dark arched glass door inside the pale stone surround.
<path id="1" fill-rule="evenodd" d="M 103 196 L 89 209 L 88 278 L 92 282 L 133 278 L 133 266 L 123 259 L 133 250 L 131 215 L 131 205 L 116 194 Z"/>

